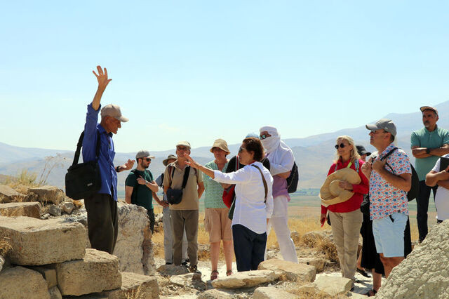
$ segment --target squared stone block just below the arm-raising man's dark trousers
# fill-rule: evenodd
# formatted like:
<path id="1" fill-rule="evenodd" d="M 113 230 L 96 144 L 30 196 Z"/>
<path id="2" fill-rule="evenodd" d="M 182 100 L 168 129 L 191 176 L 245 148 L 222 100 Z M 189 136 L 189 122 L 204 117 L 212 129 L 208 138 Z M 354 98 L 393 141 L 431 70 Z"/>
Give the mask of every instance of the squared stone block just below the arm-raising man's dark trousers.
<path id="1" fill-rule="evenodd" d="M 121 287 L 119 259 L 105 251 L 86 249 L 82 260 L 56 265 L 62 295 L 99 293 Z"/>

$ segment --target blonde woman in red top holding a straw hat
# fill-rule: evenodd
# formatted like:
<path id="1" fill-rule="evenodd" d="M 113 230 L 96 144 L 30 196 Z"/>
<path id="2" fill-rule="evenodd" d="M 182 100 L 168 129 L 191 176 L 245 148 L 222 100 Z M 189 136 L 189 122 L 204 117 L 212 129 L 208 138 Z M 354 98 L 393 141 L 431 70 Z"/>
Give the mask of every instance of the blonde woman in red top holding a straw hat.
<path id="1" fill-rule="evenodd" d="M 354 140 L 343 135 L 337 138 L 337 159 L 330 166 L 328 178 L 321 187 L 321 225 L 326 213 L 332 227 L 342 277 L 355 281 L 358 234 L 363 215 L 360 205 L 363 194 L 368 193 L 368 180 L 361 172 L 363 160 L 356 150 Z"/>

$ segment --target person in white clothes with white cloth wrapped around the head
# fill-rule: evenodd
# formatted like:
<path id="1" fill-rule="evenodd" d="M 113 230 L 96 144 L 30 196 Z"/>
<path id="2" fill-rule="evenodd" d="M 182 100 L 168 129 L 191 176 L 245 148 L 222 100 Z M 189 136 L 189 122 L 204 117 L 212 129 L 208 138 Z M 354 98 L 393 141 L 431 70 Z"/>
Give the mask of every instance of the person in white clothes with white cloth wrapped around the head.
<path id="1" fill-rule="evenodd" d="M 287 190 L 287 178 L 295 163 L 293 152 L 281 140 L 281 136 L 273 126 L 262 126 L 260 128 L 260 140 L 267 151 L 269 159 L 269 172 L 273 176 L 273 215 L 268 222 L 267 234 L 274 228 L 279 243 L 282 258 L 297 263 L 295 244 L 290 238 L 288 228 L 288 201 L 290 195 Z"/>

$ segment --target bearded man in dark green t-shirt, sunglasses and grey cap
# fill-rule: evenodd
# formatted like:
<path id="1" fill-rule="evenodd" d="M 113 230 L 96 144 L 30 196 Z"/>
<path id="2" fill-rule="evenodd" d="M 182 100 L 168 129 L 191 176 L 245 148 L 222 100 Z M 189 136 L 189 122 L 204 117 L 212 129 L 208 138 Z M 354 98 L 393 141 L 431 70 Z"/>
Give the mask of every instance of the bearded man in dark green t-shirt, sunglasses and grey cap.
<path id="1" fill-rule="evenodd" d="M 154 232 L 153 194 L 159 190 L 159 187 L 154 182 L 151 171 L 147 169 L 152 159 L 154 156 L 151 156 L 146 150 L 141 150 L 135 155 L 138 167 L 130 171 L 126 178 L 125 201 L 128 204 L 137 204 L 147 209 L 149 225 Z M 165 203 L 160 201 L 157 196 L 154 199 L 158 204 L 164 206 Z"/>

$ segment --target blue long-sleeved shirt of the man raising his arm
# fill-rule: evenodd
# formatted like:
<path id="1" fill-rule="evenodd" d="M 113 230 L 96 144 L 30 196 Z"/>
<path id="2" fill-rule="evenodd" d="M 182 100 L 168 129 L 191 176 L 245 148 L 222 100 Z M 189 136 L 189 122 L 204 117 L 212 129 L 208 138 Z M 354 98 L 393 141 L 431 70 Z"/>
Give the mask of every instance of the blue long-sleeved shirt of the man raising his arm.
<path id="1" fill-rule="evenodd" d="M 114 168 L 114 142 L 112 133 L 107 133 L 105 128 L 98 124 L 98 112 L 95 111 L 92 104 L 87 106 L 86 124 L 84 125 L 83 138 L 83 161 L 95 161 L 97 134 L 100 133 L 100 154 L 98 157 L 98 166 L 100 168 L 101 188 L 98 193 L 109 194 L 117 201 L 117 173 Z"/>

